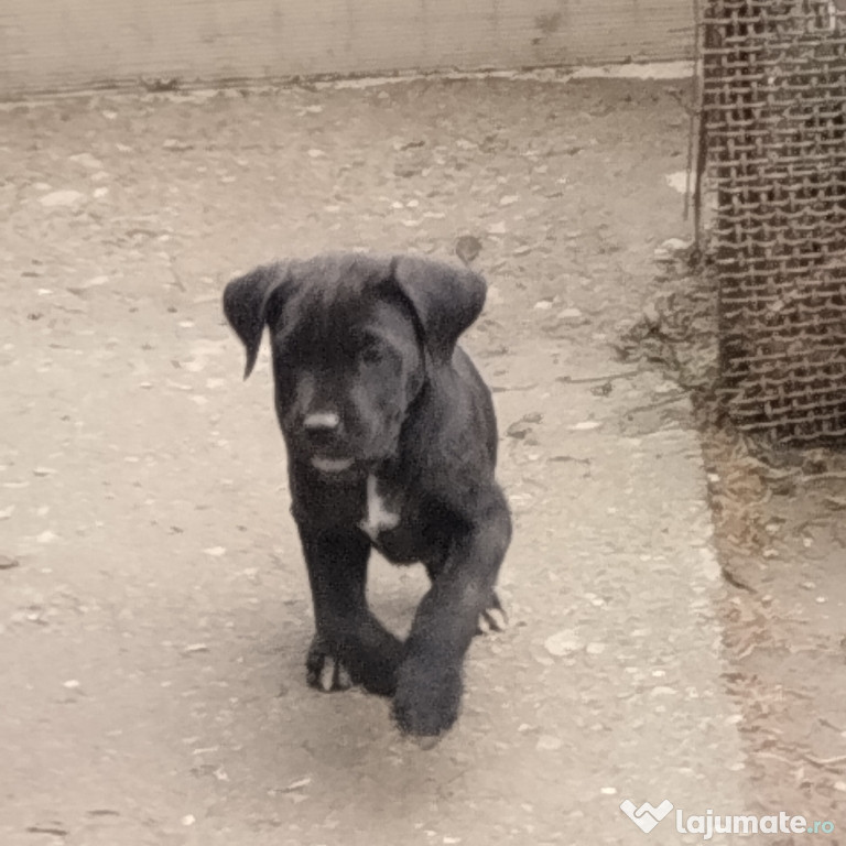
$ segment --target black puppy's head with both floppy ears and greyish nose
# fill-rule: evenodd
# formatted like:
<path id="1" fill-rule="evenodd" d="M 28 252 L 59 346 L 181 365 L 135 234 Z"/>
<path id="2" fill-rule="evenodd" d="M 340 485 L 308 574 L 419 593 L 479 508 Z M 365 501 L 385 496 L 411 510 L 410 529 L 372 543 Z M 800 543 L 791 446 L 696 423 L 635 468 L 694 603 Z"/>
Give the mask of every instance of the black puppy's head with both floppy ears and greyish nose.
<path id="1" fill-rule="evenodd" d="M 348 478 L 397 453 L 426 379 L 448 367 L 484 280 L 416 257 L 330 253 L 257 268 L 224 293 L 247 349 L 270 329 L 276 413 L 292 458 Z"/>

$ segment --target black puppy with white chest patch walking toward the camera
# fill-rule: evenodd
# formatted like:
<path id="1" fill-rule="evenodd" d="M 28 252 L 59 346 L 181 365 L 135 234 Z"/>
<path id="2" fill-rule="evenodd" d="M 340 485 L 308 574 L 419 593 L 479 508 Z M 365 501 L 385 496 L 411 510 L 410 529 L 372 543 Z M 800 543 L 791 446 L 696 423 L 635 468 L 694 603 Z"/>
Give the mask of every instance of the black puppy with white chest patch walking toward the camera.
<path id="1" fill-rule="evenodd" d="M 476 273 L 422 258 L 328 253 L 260 267 L 224 294 L 245 378 L 270 328 L 314 601 L 308 683 L 392 696 L 417 737 L 455 723 L 473 636 L 503 619 L 494 586 L 511 520 L 494 478 L 496 419 L 456 346 L 485 292 Z M 371 546 L 429 571 L 404 643 L 368 608 Z"/>

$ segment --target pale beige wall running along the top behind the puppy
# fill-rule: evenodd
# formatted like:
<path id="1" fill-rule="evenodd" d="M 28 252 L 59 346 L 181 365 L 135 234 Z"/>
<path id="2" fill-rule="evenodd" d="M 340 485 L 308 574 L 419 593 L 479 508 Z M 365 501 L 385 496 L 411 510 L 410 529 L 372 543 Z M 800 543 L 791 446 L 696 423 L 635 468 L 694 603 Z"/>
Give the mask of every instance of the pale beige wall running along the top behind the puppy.
<path id="1" fill-rule="evenodd" d="M 690 55 L 685 0 L 0 0 L 0 96 Z"/>

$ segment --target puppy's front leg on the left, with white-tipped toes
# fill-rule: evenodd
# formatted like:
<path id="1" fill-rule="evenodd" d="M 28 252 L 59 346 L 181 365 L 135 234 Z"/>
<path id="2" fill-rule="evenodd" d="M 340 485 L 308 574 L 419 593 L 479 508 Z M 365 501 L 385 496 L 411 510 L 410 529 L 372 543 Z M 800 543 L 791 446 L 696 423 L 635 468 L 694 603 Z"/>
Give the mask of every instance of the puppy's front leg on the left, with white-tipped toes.
<path id="1" fill-rule="evenodd" d="M 391 696 L 402 643 L 367 606 L 369 542 L 358 530 L 324 533 L 301 527 L 300 538 L 316 623 L 306 659 L 308 684 L 327 692 L 362 684 Z"/>

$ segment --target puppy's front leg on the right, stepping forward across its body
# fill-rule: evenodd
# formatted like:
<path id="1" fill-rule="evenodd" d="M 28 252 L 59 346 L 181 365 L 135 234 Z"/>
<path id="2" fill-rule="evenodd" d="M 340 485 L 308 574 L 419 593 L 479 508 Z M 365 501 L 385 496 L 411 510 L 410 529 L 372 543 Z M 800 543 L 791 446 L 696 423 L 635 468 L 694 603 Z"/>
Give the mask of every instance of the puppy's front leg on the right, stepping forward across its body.
<path id="1" fill-rule="evenodd" d="M 464 657 L 490 604 L 511 539 L 511 518 L 499 490 L 468 525 L 453 540 L 405 642 L 393 716 L 408 735 L 436 737 L 458 716 Z"/>

